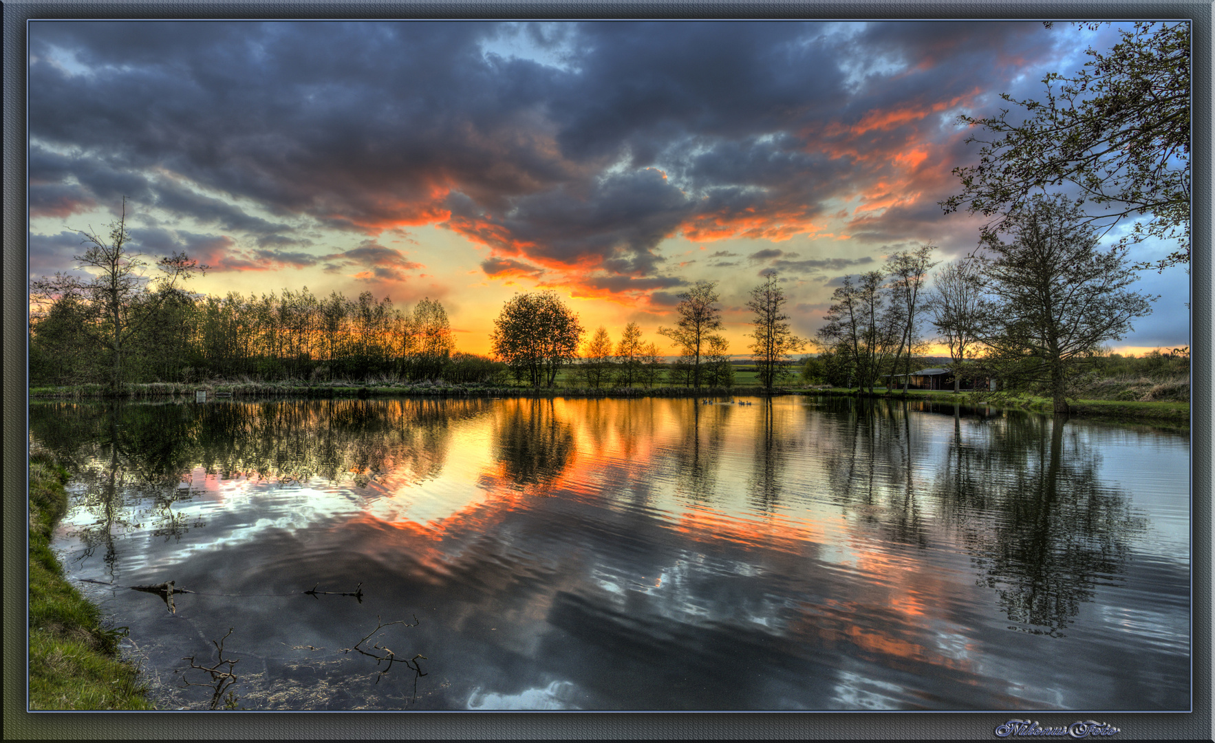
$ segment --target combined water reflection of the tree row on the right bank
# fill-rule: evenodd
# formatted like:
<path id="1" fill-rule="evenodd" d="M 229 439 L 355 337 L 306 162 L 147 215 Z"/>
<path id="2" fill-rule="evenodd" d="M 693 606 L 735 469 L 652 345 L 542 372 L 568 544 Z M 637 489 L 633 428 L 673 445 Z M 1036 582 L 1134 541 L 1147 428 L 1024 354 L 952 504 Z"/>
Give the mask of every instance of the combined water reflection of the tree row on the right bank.
<path id="1" fill-rule="evenodd" d="M 972 555 L 1011 629 L 1059 636 L 1100 583 L 1125 572 L 1126 545 L 1146 528 L 1125 493 L 1097 481 L 1098 455 L 1066 435 L 1066 416 L 955 415 L 939 465 L 917 481 L 929 452 L 908 403 L 829 410 L 838 441 L 824 459 L 844 512 L 920 548 L 925 515 L 934 514 Z"/>

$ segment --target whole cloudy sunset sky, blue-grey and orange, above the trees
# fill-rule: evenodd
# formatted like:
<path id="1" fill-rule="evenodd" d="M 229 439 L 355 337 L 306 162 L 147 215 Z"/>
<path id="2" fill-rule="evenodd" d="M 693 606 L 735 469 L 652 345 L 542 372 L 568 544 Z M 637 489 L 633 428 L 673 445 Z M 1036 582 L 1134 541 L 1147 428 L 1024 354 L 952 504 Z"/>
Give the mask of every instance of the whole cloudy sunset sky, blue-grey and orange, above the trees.
<path id="1" fill-rule="evenodd" d="M 32 22 L 30 277 L 75 271 L 125 195 L 136 251 L 210 267 L 194 291 L 436 299 L 487 353 L 507 300 L 553 289 L 587 339 L 635 322 L 673 353 L 659 328 L 713 280 L 742 356 L 772 273 L 810 338 L 846 276 L 972 251 L 983 217 L 938 205 L 978 157 L 957 117 L 1041 97 L 1117 28 Z M 1185 270 L 1135 289 L 1160 299 L 1111 346 L 1188 345 Z"/>

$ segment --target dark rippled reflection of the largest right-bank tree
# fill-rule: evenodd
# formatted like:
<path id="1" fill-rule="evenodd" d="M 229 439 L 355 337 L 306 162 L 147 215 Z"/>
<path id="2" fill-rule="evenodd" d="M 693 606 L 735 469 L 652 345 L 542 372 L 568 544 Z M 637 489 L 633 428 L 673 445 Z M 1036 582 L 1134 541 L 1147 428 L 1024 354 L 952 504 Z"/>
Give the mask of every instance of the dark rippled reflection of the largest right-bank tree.
<path id="1" fill-rule="evenodd" d="M 1062 636 L 1096 586 L 1125 571 L 1146 520 L 1098 483 L 1098 455 L 1066 433 L 1067 416 L 1010 414 L 983 427 L 955 426 L 934 495 L 1012 629 Z"/>

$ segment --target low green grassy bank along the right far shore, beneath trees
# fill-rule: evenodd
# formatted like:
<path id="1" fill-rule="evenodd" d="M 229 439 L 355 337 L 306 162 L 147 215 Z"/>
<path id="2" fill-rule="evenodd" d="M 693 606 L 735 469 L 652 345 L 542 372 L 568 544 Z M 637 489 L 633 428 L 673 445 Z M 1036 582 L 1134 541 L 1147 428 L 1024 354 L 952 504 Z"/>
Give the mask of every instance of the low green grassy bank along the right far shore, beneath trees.
<path id="1" fill-rule="evenodd" d="M 825 395 L 840 397 L 855 397 L 857 390 L 844 387 L 809 387 L 795 390 L 804 395 Z M 868 393 L 865 393 L 868 396 Z M 874 397 L 887 397 L 885 388 L 876 388 Z M 897 390 L 889 393 L 894 399 L 925 399 L 939 403 L 960 403 L 963 405 L 990 405 L 993 408 L 1008 408 L 1016 410 L 1029 410 L 1032 413 L 1045 413 L 1052 415 L 1055 410 L 1053 401 L 1049 397 L 1039 397 L 1024 393 L 993 393 L 979 395 L 974 392 L 954 393 L 951 391 L 934 390 L 908 390 L 906 393 Z M 1181 401 L 1129 401 L 1129 399 L 1075 399 L 1069 401 L 1072 415 L 1084 418 L 1101 418 L 1120 420 L 1128 422 L 1164 422 L 1169 425 L 1189 425 L 1189 403 Z"/>

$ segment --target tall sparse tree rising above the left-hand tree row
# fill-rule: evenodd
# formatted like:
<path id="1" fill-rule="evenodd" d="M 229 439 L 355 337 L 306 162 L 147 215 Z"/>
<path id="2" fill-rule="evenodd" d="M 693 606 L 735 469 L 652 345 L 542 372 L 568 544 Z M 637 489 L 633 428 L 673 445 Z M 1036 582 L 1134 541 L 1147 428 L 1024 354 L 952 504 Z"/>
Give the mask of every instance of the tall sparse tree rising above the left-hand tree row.
<path id="1" fill-rule="evenodd" d="M 68 229 L 83 236 L 81 244 L 89 245 L 84 255 L 73 260 L 80 268 L 92 272 L 92 277 L 84 279 L 62 273 L 43 277 L 32 282 L 30 299 L 41 305 L 70 297 L 87 307 L 90 322 L 85 330 L 97 346 L 109 351 L 108 386 L 111 393 L 118 393 L 125 382 L 124 356 L 135 335 L 157 316 L 165 300 L 175 296 L 179 282 L 204 273 L 208 267 L 183 253 L 175 253 L 157 261 L 160 276 L 148 278 L 145 273 L 147 261 L 128 246 L 131 236 L 126 232 L 125 197 L 122 216 L 109 225 L 108 240 L 91 227 Z M 135 306 L 141 311 L 132 312 Z"/>

